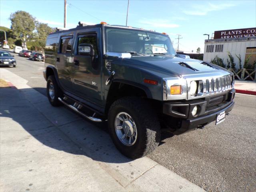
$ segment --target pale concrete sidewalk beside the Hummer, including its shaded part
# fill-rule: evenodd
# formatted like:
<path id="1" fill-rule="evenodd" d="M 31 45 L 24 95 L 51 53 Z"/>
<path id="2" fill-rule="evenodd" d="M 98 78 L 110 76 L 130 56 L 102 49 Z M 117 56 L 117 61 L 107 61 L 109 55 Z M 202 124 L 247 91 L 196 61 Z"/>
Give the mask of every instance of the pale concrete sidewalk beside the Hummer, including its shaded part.
<path id="1" fill-rule="evenodd" d="M 52 107 L 0 69 L 0 191 L 204 191 L 150 158 L 116 150 L 106 124 Z"/>

